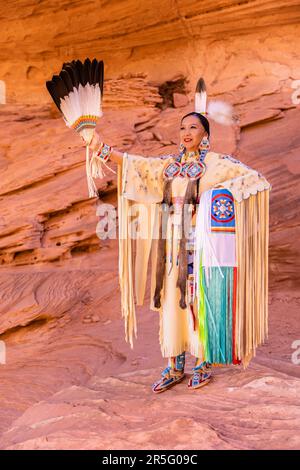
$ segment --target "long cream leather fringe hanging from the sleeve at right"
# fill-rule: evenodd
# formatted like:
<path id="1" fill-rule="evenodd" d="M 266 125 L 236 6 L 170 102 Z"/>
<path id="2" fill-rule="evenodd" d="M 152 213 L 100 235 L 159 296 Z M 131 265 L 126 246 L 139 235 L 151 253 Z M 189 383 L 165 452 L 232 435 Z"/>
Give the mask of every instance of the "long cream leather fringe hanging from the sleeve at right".
<path id="1" fill-rule="evenodd" d="M 237 203 L 235 355 L 246 368 L 268 337 L 269 189 Z"/>

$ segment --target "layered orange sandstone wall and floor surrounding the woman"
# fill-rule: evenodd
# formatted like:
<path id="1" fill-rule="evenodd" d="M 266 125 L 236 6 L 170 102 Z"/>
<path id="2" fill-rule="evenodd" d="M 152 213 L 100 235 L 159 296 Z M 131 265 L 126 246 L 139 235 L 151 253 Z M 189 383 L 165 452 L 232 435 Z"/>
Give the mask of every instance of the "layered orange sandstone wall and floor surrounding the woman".
<path id="1" fill-rule="evenodd" d="M 299 2 L 282 0 L 1 9 L 0 448 L 299 448 L 299 19 Z M 246 371 L 154 395 L 166 359 L 149 293 L 134 350 L 125 343 L 117 240 L 97 236 L 116 175 L 88 198 L 82 142 L 45 87 L 86 57 L 104 60 L 97 130 L 119 150 L 176 151 L 200 76 L 233 104 L 236 125 L 212 124 L 211 148 L 272 184 L 270 334 Z"/>

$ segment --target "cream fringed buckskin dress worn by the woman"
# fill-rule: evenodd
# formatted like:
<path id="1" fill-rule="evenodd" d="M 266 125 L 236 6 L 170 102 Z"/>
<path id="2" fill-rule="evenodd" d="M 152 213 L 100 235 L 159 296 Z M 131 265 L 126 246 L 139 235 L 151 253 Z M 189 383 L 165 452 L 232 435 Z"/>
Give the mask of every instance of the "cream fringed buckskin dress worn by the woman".
<path id="1" fill-rule="evenodd" d="M 159 341 L 163 357 L 177 356 L 186 351 L 209 362 L 242 362 L 246 367 L 255 355 L 256 347 L 265 341 L 268 334 L 271 185 L 261 173 L 231 155 L 207 152 L 204 160 L 206 171 L 199 183 L 201 211 L 197 208 L 190 227 L 194 236 L 191 237 L 187 277 L 188 305 L 182 309 L 179 288 L 176 287 L 177 235 L 181 226 L 179 208 L 188 178 L 179 176 L 173 179 L 175 212 L 168 218 L 164 283 L 161 306 L 157 308 L 153 296 L 163 171 L 175 158 L 174 154 L 144 157 L 125 153 L 122 165 L 118 165 L 119 284 L 125 339 L 133 347 L 133 336 L 137 337 L 136 306 L 144 303 L 150 262 L 150 308 L 159 313 Z M 220 222 L 224 221 L 220 219 L 218 222 L 218 214 L 223 215 L 224 207 L 233 214 L 222 226 Z M 213 214 L 213 211 L 216 212 Z M 203 221 L 199 220 L 199 214 L 202 214 Z M 204 224 L 207 217 L 211 221 L 208 229 Z M 143 236 L 132 238 L 132 220 L 136 222 L 135 227 L 142 228 Z M 191 261 L 195 260 L 193 247 L 197 231 L 201 240 L 205 231 L 206 238 L 198 243 L 204 263 L 194 266 Z M 216 263 L 212 262 L 211 249 L 217 253 Z M 227 251 L 231 253 L 229 262 Z M 194 293 L 191 284 L 196 288 Z"/>

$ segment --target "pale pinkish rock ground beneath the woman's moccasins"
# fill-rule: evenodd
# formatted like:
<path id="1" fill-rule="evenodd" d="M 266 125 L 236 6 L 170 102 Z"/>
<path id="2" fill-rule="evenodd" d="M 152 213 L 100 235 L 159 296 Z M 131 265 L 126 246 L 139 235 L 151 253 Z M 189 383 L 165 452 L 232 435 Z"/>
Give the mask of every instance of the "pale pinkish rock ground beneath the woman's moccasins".
<path id="1" fill-rule="evenodd" d="M 97 267 L 77 272 L 78 289 L 93 286 L 89 297 L 80 292 L 81 301 L 72 290 L 76 266 L 10 274 L 17 285 L 35 280 L 36 293 L 49 289 L 52 306 L 64 292 L 74 303 L 68 311 L 62 307 L 63 314 L 51 318 L 45 312 L 44 319 L 2 336 L 7 364 L 0 366 L 0 447 L 299 448 L 300 364 L 292 362 L 292 343 L 300 339 L 300 297 L 294 291 L 270 292 L 269 339 L 245 371 L 215 368 L 209 385 L 191 391 L 193 357 L 187 355 L 186 379 L 154 395 L 151 384 L 166 365 L 158 317 L 146 297 L 131 350 L 117 313 L 116 262 L 114 255 L 112 272 Z"/>

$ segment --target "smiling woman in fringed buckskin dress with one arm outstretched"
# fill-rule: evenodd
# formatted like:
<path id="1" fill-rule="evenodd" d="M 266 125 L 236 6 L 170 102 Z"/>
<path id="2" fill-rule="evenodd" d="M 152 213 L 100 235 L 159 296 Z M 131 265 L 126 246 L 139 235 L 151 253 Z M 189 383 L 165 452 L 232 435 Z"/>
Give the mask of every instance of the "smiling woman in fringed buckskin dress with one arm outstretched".
<path id="1" fill-rule="evenodd" d="M 246 367 L 268 334 L 271 185 L 210 151 L 209 133 L 204 114 L 191 112 L 181 119 L 178 154 L 104 153 L 118 163 L 119 283 L 131 347 L 151 267 L 150 308 L 168 358 L 155 393 L 184 378 L 186 352 L 196 358 L 188 387 L 198 388 L 213 365 Z"/>

